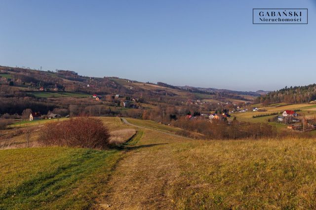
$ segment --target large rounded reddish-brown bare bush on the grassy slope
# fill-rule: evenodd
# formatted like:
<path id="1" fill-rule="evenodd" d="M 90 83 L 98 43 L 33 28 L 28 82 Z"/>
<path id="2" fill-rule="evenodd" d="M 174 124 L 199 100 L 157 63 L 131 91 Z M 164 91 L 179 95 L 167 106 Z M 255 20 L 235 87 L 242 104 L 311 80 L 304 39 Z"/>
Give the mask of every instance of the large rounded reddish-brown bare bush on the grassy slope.
<path id="1" fill-rule="evenodd" d="M 71 146 L 105 149 L 110 133 L 102 121 L 91 117 L 71 118 L 44 125 L 39 141 L 44 146 Z"/>

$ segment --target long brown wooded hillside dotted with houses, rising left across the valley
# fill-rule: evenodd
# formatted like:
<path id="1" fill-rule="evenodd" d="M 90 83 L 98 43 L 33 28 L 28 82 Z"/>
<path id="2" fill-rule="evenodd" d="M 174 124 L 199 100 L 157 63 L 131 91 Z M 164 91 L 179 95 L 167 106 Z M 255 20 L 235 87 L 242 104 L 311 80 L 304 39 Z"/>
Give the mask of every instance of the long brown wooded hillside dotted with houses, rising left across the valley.
<path id="1" fill-rule="evenodd" d="M 81 76 L 70 70 L 0 67 L 0 114 L 14 115 L 13 118 L 21 117 L 26 109 L 63 116 L 83 113 L 137 118 L 146 111 L 145 119 L 167 123 L 170 114 L 179 117 L 190 111 L 209 114 L 210 111 L 242 106 L 254 99 L 253 94 L 246 92 L 210 92 L 162 82 L 153 84 L 118 77 Z M 124 105 L 125 101 L 127 105 Z"/>

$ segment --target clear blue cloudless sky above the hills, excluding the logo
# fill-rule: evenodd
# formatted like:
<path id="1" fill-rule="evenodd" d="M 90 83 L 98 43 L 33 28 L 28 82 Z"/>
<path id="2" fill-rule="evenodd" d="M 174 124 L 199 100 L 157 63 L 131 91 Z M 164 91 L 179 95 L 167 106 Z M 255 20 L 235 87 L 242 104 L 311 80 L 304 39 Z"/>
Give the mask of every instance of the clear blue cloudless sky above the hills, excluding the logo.
<path id="1" fill-rule="evenodd" d="M 253 25 L 252 8 L 308 8 Z M 0 65 L 233 90 L 316 83 L 316 0 L 0 0 Z"/>

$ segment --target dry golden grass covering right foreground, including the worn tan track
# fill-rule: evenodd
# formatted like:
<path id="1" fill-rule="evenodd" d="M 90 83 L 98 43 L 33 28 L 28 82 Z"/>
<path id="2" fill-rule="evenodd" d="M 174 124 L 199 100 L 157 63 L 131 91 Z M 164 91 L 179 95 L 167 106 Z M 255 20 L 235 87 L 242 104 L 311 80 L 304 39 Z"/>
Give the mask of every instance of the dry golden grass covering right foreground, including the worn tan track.
<path id="1" fill-rule="evenodd" d="M 100 203 L 114 209 L 315 209 L 315 145 L 314 139 L 184 140 L 145 129 Z"/>

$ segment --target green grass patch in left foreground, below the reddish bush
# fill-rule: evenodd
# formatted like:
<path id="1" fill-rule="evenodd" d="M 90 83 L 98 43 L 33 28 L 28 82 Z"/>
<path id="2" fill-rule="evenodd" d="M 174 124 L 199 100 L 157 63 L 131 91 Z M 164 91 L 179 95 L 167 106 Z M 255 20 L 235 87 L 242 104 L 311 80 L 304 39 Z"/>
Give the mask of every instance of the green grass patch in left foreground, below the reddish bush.
<path id="1" fill-rule="evenodd" d="M 0 151 L 0 209 L 86 209 L 121 152 L 77 148 Z"/>

